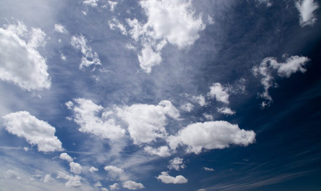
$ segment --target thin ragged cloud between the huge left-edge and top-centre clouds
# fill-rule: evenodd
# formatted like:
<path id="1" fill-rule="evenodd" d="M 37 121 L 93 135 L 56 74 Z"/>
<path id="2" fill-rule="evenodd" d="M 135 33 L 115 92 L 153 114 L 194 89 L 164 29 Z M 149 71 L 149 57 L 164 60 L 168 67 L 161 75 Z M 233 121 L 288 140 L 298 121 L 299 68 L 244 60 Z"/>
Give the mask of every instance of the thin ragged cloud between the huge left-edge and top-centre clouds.
<path id="1" fill-rule="evenodd" d="M 91 47 L 86 45 L 87 39 L 80 34 L 80 36 L 71 37 L 71 45 L 82 52 L 82 59 L 79 68 L 89 67 L 90 65 L 100 65 L 100 60 L 97 52 L 92 53 Z"/>

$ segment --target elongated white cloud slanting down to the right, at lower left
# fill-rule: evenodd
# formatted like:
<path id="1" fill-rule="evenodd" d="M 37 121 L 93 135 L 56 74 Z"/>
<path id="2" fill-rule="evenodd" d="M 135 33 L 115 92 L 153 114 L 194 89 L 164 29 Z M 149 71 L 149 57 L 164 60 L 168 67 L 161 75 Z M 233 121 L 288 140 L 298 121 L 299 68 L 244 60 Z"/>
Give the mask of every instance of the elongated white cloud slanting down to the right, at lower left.
<path id="1" fill-rule="evenodd" d="M 27 111 L 10 113 L 2 117 L 5 129 L 18 137 L 23 137 L 38 151 L 61 151 L 60 140 L 55 136 L 56 129 L 47 122 L 37 119 Z"/>

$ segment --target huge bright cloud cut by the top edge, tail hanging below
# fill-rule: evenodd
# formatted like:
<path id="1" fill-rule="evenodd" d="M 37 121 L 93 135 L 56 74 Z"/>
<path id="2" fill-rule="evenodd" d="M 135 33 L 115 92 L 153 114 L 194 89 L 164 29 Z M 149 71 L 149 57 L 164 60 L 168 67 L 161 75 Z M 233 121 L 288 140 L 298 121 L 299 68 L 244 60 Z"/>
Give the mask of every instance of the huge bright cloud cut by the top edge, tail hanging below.
<path id="1" fill-rule="evenodd" d="M 205 28 L 201 15 L 195 17 L 192 2 L 187 0 L 147 0 L 140 5 L 147 22 L 127 19 L 129 34 L 143 45 L 138 55 L 140 67 L 151 73 L 152 67 L 162 61 L 160 51 L 169 42 L 178 48 L 194 44 L 198 32 Z"/>

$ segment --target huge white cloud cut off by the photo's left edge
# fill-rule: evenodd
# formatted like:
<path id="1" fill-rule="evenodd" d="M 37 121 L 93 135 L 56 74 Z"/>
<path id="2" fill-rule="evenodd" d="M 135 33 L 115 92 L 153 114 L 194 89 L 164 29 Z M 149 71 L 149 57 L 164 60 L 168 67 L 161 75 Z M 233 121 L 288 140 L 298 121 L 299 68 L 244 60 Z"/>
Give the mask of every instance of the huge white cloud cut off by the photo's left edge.
<path id="1" fill-rule="evenodd" d="M 23 90 L 49 89 L 51 82 L 46 59 L 36 50 L 46 44 L 45 37 L 46 34 L 39 28 L 28 32 L 20 21 L 0 28 L 0 79 Z"/>

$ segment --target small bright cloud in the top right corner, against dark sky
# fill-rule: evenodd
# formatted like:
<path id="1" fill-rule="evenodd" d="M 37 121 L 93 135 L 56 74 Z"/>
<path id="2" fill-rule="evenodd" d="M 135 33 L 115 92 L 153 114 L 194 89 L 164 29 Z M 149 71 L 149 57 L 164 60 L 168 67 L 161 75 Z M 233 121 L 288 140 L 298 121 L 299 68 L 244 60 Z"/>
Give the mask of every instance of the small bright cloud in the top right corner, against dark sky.
<path id="1" fill-rule="evenodd" d="M 317 2 L 314 2 L 314 0 L 298 0 L 295 6 L 300 12 L 301 27 L 313 25 L 316 22 L 317 17 L 314 13 L 319 8 Z"/>

